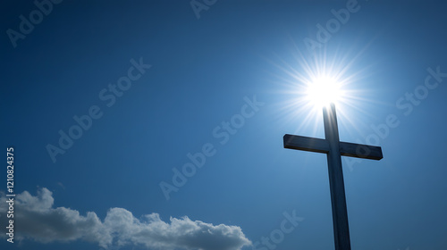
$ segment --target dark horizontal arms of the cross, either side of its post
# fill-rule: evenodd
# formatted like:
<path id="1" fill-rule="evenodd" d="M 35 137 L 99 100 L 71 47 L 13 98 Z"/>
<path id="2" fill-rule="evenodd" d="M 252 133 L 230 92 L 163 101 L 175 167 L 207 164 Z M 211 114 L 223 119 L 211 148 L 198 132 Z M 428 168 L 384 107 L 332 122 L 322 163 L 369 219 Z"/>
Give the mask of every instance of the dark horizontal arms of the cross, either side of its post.
<path id="1" fill-rule="evenodd" d="M 329 152 L 329 142 L 325 139 L 314 137 L 300 137 L 286 134 L 283 137 L 284 148 L 298 149 L 316 153 Z M 368 146 L 363 144 L 340 142 L 340 154 L 356 158 L 380 160 L 384 158 L 380 146 Z"/>

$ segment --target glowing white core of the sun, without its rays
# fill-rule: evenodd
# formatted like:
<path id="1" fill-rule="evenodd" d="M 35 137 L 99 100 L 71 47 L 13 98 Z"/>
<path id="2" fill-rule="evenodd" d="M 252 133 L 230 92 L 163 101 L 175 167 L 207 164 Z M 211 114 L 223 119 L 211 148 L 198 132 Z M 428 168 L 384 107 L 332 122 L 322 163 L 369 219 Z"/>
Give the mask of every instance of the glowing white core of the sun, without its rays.
<path id="1" fill-rule="evenodd" d="M 317 108 L 331 103 L 336 104 L 342 100 L 342 97 L 341 83 L 333 77 L 317 77 L 307 83 L 305 98 Z"/>

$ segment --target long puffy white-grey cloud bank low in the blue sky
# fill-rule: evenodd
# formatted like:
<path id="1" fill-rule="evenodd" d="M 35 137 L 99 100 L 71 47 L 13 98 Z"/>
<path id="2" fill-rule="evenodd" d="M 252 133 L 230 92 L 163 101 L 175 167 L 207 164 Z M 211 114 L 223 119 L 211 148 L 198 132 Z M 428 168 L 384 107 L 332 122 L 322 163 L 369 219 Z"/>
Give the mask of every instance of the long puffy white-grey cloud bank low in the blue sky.
<path id="1" fill-rule="evenodd" d="M 6 224 L 6 196 L 0 194 L 0 222 Z M 15 197 L 15 239 L 42 243 L 84 240 L 109 246 L 138 245 L 148 249 L 239 250 L 251 242 L 240 227 L 191 221 L 188 217 L 162 221 L 158 213 L 138 219 L 123 208 L 111 208 L 101 221 L 95 212 L 80 212 L 65 207 L 53 208 L 55 199 L 45 187 L 37 196 L 24 191 Z M 5 228 L 2 229 L 5 236 Z"/>

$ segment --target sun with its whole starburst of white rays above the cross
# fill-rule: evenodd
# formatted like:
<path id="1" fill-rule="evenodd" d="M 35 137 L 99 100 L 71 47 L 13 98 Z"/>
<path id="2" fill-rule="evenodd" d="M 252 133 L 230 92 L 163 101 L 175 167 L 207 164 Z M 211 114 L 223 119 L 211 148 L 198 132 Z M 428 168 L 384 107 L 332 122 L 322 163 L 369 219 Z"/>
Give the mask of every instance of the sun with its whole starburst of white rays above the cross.
<path id="1" fill-rule="evenodd" d="M 365 73 L 367 68 L 358 68 L 356 64 L 361 52 L 351 54 L 350 50 L 340 49 L 329 54 L 324 50 L 305 56 L 297 46 L 293 48 L 291 62 L 281 59 L 275 63 L 280 70 L 275 82 L 281 87 L 274 91 L 283 95 L 283 101 L 278 103 L 281 110 L 278 117 L 285 124 L 296 123 L 298 119 L 297 131 L 312 128 L 316 133 L 321 128 L 319 125 L 324 107 L 333 103 L 339 121 L 347 128 L 356 129 L 351 126 L 353 118 L 350 113 L 366 113 L 361 109 L 360 102 L 372 102 L 366 98 L 367 92 L 362 82 L 368 77 Z"/>

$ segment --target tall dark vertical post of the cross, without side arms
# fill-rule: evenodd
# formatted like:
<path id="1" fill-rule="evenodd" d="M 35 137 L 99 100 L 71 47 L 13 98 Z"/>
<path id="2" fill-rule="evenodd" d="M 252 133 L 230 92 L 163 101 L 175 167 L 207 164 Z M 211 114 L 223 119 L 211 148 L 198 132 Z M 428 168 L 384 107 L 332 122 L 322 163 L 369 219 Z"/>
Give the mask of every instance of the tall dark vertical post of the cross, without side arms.
<path id="1" fill-rule="evenodd" d="M 327 164 L 329 168 L 329 185 L 333 208 L 333 237 L 335 250 L 350 250 L 350 228 L 348 209 L 344 192 L 342 156 L 340 153 L 340 138 L 338 134 L 337 114 L 335 104 L 323 109 L 325 123 L 325 139 L 329 143 Z"/>

